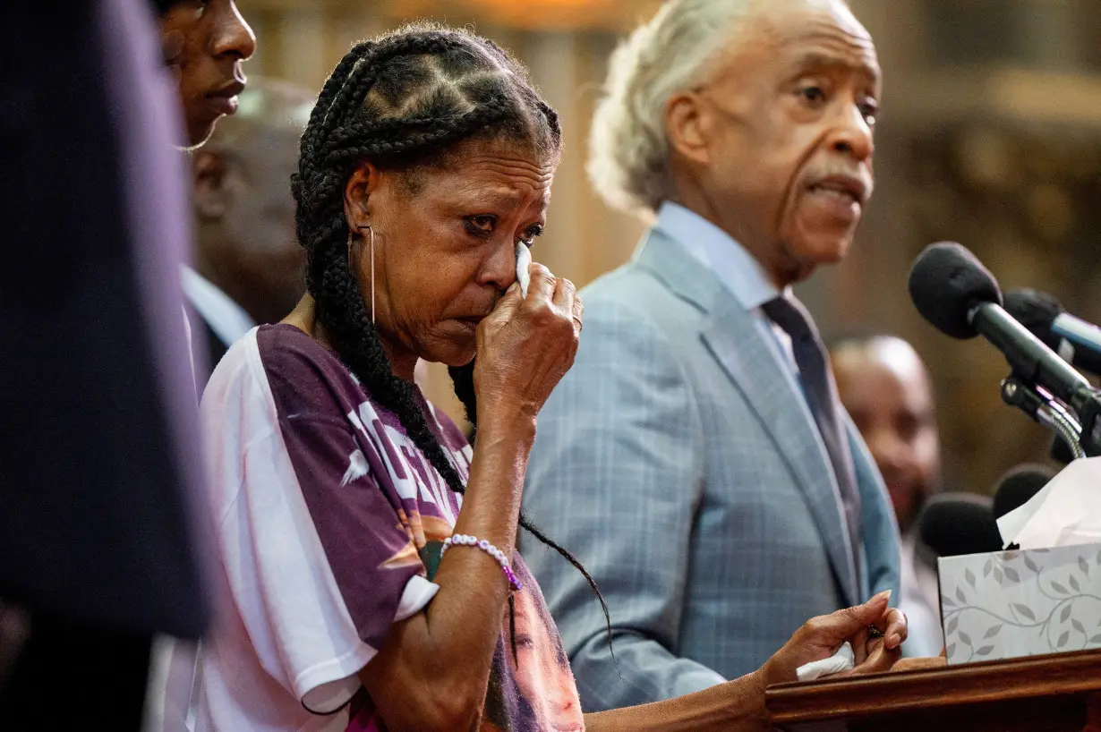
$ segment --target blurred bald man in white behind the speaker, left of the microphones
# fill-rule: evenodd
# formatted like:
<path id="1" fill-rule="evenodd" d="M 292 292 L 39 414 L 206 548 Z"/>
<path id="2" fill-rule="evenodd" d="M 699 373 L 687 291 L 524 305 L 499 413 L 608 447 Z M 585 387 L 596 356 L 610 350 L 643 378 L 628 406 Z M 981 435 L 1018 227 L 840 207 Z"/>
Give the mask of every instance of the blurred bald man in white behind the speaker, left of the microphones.
<path id="1" fill-rule="evenodd" d="M 944 645 L 937 568 L 915 551 L 922 506 L 940 489 L 940 438 L 933 384 L 917 351 L 894 336 L 843 338 L 830 348 L 841 403 L 883 473 L 902 531 L 902 597 L 907 656 Z"/>

